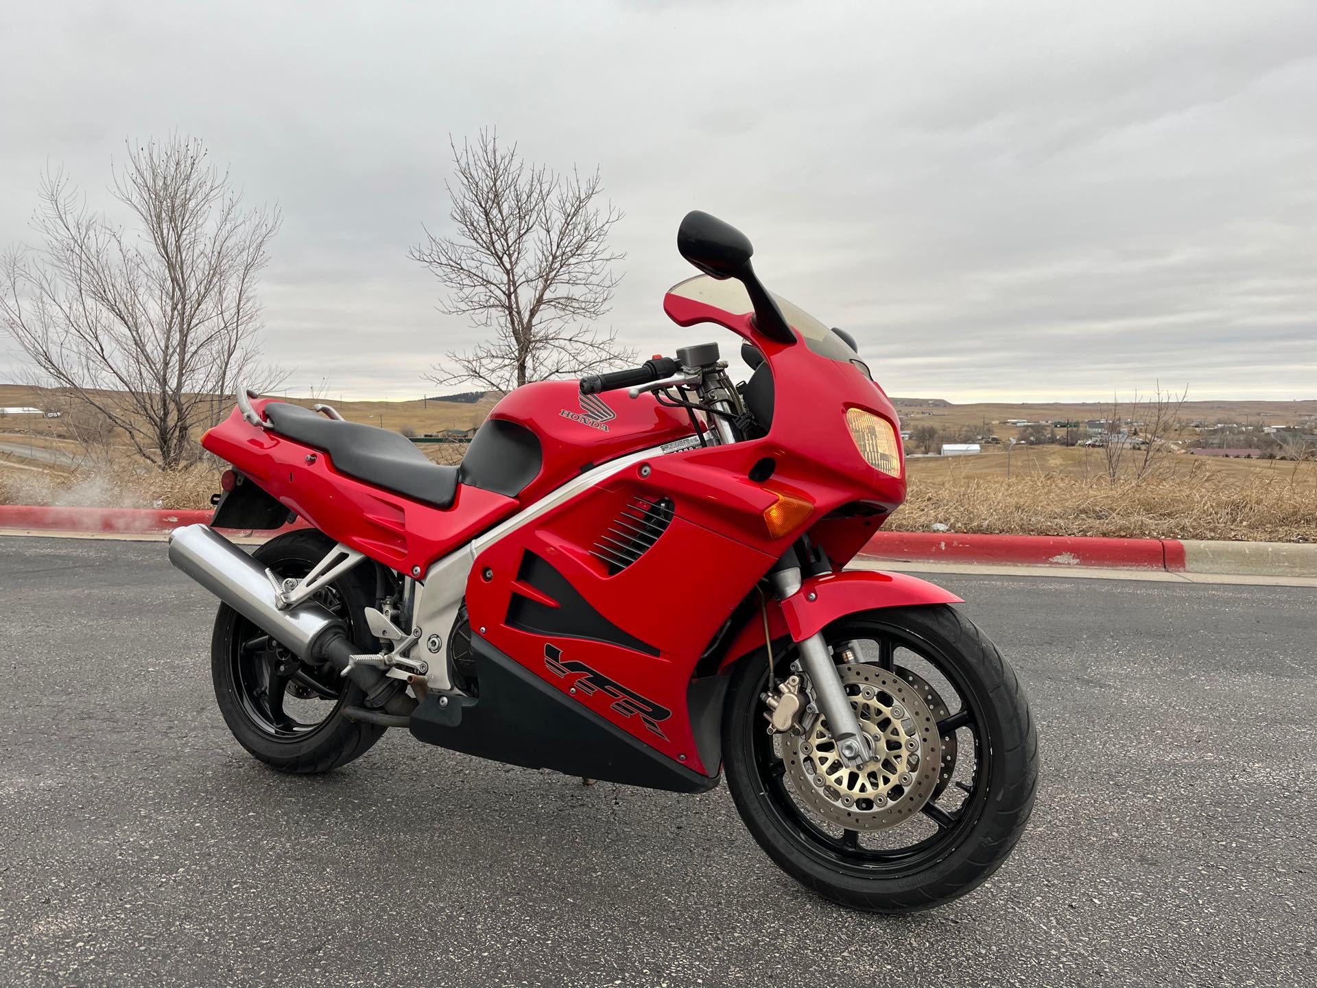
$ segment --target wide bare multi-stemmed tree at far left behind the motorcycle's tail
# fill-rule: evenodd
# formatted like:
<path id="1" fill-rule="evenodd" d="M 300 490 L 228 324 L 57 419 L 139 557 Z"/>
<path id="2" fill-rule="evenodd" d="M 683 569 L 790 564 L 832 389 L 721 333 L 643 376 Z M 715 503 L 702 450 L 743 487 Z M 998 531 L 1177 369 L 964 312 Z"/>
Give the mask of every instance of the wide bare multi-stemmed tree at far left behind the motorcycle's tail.
<path id="1" fill-rule="evenodd" d="M 63 171 L 41 183 L 36 250 L 0 260 L 0 325 L 49 383 L 162 469 L 255 370 L 255 285 L 278 209 L 244 211 L 198 140 L 128 145 L 111 188 L 134 229 L 92 211 Z"/>

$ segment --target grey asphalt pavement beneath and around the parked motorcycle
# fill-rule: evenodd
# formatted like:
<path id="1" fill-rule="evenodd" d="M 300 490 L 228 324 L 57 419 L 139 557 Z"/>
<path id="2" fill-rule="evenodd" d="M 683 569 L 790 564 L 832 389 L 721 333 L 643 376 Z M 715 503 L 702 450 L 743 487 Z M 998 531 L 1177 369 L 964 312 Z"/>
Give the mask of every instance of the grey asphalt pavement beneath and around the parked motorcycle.
<path id="1" fill-rule="evenodd" d="M 1317 590 L 939 576 L 1026 684 L 1023 843 L 856 914 L 699 797 L 391 731 L 300 779 L 229 736 L 162 543 L 0 539 L 0 983 L 1317 981 Z"/>

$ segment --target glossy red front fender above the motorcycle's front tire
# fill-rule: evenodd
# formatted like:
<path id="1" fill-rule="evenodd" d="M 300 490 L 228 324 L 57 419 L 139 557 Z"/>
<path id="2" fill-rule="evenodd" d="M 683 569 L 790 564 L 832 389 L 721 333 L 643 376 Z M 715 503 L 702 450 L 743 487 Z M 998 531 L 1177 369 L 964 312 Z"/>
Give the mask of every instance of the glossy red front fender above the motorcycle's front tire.
<path id="1" fill-rule="evenodd" d="M 768 632 L 777 640 L 790 636 L 803 642 L 838 618 L 880 607 L 910 607 L 921 603 L 961 603 L 961 598 L 927 580 L 907 573 L 848 569 L 809 577 L 785 601 L 769 599 Z M 719 672 L 744 655 L 764 647 L 764 617 L 752 614 L 723 655 Z"/>

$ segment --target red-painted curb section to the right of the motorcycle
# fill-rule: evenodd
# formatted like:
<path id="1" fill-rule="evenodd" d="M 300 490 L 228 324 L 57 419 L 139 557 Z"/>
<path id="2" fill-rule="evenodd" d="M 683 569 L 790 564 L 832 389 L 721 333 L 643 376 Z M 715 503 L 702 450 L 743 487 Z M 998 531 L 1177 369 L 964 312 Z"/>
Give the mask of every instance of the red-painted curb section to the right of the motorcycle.
<path id="1" fill-rule="evenodd" d="M 911 563 L 1184 569 L 1184 545 L 1163 539 L 877 532 L 860 555 Z"/>

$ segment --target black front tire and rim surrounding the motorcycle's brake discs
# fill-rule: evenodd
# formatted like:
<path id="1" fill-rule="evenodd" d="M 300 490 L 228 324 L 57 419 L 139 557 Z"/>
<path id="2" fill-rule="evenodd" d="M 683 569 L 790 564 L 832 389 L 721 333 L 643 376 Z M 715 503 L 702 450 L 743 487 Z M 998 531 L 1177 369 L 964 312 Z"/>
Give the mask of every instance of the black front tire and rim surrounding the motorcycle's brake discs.
<path id="1" fill-rule="evenodd" d="M 848 615 L 823 635 L 835 655 L 849 649 L 855 661 L 934 690 L 939 734 L 951 754 L 947 773 L 934 796 L 896 826 L 861 833 L 846 829 L 847 814 L 836 814 L 840 823 L 819 817 L 793 789 L 785 742 L 765 731 L 768 661 L 760 651 L 732 672 L 723 714 L 727 785 L 741 819 L 778 867 L 843 905 L 907 913 L 965 894 L 1001 867 L 1034 805 L 1038 738 L 1015 673 L 968 618 L 946 605 Z M 774 657 L 781 681 L 795 649 Z M 957 739 L 963 755 L 952 772 Z M 965 765 L 971 751 L 972 771 Z"/>

